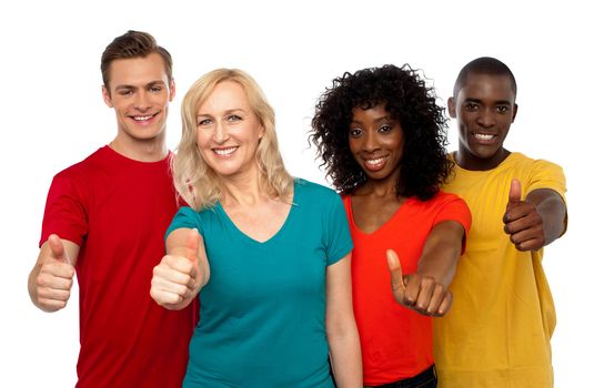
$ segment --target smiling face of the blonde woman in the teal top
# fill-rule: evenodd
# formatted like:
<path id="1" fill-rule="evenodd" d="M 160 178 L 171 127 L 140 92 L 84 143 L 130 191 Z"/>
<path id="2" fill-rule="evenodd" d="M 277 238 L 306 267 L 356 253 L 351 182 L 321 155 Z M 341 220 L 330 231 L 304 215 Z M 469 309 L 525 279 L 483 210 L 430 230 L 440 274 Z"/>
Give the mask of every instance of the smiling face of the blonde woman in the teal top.
<path id="1" fill-rule="evenodd" d="M 255 153 L 264 134 L 241 84 L 215 85 L 197 114 L 198 147 L 218 175 L 256 173 Z"/>

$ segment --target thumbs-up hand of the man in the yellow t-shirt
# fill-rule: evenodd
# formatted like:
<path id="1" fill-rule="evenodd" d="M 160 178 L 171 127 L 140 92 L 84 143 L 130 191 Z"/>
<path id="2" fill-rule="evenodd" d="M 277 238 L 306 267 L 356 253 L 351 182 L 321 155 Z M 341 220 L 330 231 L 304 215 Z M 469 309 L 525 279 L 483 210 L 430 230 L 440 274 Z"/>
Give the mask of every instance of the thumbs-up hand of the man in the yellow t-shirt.
<path id="1" fill-rule="evenodd" d="M 545 245 L 543 218 L 534 204 L 521 201 L 522 187 L 514 178 L 510 185 L 510 200 L 503 215 L 503 231 L 519 251 L 538 251 Z"/>

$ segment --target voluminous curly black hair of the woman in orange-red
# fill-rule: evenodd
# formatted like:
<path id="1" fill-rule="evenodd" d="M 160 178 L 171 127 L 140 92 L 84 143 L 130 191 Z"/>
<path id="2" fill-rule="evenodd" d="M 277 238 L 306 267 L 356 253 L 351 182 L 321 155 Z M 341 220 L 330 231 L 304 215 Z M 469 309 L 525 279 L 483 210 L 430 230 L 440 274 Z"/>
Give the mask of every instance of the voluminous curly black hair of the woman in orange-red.
<path id="1" fill-rule="evenodd" d="M 453 162 L 446 155 L 444 109 L 436 104 L 434 89 L 409 64 L 346 72 L 326 88 L 315 105 L 310 134 L 318 157 L 323 160 L 321 167 L 326 166 L 326 175 L 343 194 L 352 194 L 366 182 L 366 174 L 349 147 L 352 110 L 382 103 L 399 121 L 404 135 L 396 192 L 426 201 L 439 192 Z"/>

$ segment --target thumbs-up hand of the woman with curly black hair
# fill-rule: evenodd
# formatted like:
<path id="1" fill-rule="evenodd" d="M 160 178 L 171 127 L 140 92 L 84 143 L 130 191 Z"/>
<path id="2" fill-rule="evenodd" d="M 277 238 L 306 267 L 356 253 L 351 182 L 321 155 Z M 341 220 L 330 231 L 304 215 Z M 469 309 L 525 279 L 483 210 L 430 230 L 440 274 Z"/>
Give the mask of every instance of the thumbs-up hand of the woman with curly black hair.
<path id="1" fill-rule="evenodd" d="M 403 276 L 399 255 L 386 251 L 387 266 L 394 299 L 402 306 L 431 317 L 442 317 L 451 308 L 453 295 L 431 276 Z"/>

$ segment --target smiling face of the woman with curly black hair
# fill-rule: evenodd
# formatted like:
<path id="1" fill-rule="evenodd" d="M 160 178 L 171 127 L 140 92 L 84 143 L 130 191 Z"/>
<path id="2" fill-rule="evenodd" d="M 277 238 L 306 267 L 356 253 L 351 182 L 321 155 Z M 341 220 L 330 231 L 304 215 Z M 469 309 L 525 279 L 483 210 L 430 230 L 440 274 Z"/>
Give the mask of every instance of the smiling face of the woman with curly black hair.
<path id="1" fill-rule="evenodd" d="M 352 110 L 349 146 L 369 181 L 396 183 L 403 157 L 404 135 L 397 120 L 385 110 L 385 104 L 371 109 Z"/>

